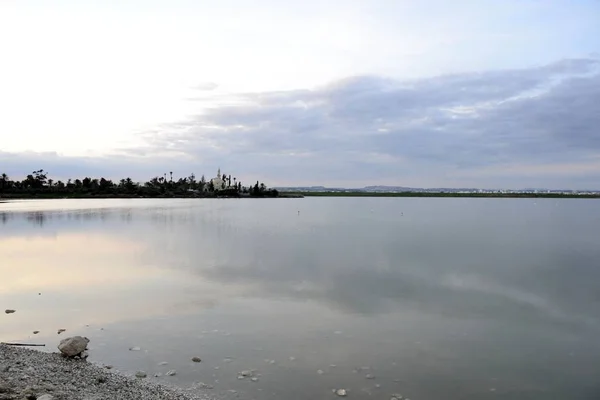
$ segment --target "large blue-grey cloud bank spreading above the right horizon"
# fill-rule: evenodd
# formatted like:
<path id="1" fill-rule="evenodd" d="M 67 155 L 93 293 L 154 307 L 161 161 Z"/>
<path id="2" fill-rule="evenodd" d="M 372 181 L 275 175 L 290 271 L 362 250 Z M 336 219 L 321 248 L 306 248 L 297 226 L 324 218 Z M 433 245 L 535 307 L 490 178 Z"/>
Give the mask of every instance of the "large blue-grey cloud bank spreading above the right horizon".
<path id="1" fill-rule="evenodd" d="M 145 146 L 120 149 L 117 164 L 127 170 L 133 160 L 140 172 L 150 163 L 159 171 L 221 166 L 278 185 L 597 188 L 599 70 L 599 59 L 579 58 L 205 93 L 195 115 L 140 134 Z"/>

